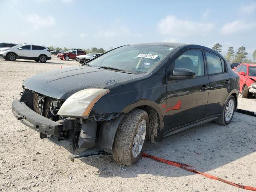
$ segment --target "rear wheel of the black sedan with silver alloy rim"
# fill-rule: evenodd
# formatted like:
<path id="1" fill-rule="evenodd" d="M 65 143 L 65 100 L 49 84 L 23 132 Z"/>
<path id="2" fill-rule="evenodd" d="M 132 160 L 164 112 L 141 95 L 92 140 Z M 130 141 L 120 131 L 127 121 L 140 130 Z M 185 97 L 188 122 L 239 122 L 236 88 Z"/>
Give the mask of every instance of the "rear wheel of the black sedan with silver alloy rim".
<path id="1" fill-rule="evenodd" d="M 228 125 L 234 116 L 235 109 L 236 109 L 236 100 L 234 96 L 231 95 L 228 98 L 228 101 L 226 102 L 222 110 L 222 114 L 218 119 L 215 120 L 215 123 L 220 125 Z"/>

